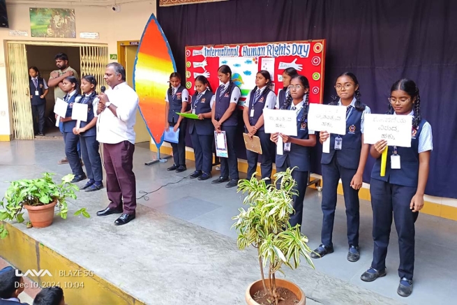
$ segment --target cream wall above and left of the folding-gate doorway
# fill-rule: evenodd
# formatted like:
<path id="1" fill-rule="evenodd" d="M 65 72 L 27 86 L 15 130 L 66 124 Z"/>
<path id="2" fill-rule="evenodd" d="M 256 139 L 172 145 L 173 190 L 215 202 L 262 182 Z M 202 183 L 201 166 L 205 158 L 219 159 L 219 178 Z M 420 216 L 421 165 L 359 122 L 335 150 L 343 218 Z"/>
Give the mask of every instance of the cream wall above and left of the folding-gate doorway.
<path id="1" fill-rule="evenodd" d="M 156 0 L 119 4 L 121 10 L 118 13 L 113 12 L 111 6 L 89 6 L 89 3 L 86 3 L 85 6 L 82 6 L 82 3 L 79 5 L 73 3 L 73 6 L 70 7 L 63 4 L 56 6 L 55 2 L 54 4 L 50 2 L 48 5 L 45 1 L 38 3 L 41 5 L 7 3 L 10 29 L 28 31 L 29 37 L 8 36 L 8 29 L 0 29 L 0 40 L 103 43 L 108 45 L 110 54 L 117 54 L 117 41 L 139 40 L 149 17 L 152 13 L 156 13 Z M 29 8 L 31 7 L 74 8 L 77 38 L 30 37 Z M 98 32 L 99 39 L 79 38 L 80 32 Z M 0 140 L 6 140 L 13 133 L 8 101 L 5 45 L 6 43 L 0 45 Z"/>

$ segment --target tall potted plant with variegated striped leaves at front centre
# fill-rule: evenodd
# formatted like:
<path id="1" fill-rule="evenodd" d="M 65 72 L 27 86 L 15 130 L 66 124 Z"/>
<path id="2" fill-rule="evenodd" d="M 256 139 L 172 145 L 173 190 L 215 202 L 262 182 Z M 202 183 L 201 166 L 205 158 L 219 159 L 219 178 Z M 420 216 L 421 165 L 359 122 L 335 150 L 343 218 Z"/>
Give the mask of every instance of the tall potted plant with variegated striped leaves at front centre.
<path id="1" fill-rule="evenodd" d="M 292 170 L 276 173 L 274 184 L 267 184 L 265 179 L 258 181 L 255 174 L 238 184 L 238 191 L 247 193 L 243 204 L 248 209 L 239 209 L 239 215 L 232 218 L 237 221 L 232 228 L 237 229 L 237 245 L 241 250 L 248 246 L 257 248 L 262 276 L 262 280 L 246 290 L 246 302 L 250 305 L 304 305 L 306 302 L 304 292 L 297 285 L 276 278 L 277 271 L 284 274 L 283 265 L 297 269 L 301 256 L 314 268 L 309 256 L 311 249 L 306 244 L 308 238 L 301 234 L 299 225 L 289 224 L 289 216 L 294 211 L 292 196 L 297 193 Z"/>

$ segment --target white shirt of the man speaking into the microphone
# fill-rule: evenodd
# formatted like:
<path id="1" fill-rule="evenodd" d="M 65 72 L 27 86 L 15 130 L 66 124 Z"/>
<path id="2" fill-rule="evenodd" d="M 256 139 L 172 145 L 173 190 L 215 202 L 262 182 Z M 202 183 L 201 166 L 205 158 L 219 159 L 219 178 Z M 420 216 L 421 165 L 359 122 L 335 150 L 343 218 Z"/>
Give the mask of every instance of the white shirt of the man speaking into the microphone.
<path id="1" fill-rule="evenodd" d="M 128 141 L 135 144 L 135 119 L 138 107 L 138 95 L 126 82 L 121 82 L 114 89 L 107 89 L 105 94 L 117 107 L 117 117 L 110 109 L 98 115 L 97 140 L 100 143 L 117 144 Z"/>

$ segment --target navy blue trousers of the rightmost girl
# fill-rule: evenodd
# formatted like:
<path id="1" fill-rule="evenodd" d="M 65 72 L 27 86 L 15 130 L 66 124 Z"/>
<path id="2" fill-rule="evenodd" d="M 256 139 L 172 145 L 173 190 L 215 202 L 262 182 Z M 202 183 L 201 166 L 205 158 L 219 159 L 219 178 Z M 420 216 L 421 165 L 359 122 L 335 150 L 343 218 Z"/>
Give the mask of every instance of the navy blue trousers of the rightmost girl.
<path id="1" fill-rule="evenodd" d="M 371 267 L 382 270 L 386 267 L 392 216 L 398 234 L 400 266 L 398 276 L 412 280 L 414 274 L 414 223 L 419 212 L 410 209 L 410 203 L 417 188 L 399 186 L 389 182 L 371 179 L 370 195 L 373 208 L 373 262 Z"/>

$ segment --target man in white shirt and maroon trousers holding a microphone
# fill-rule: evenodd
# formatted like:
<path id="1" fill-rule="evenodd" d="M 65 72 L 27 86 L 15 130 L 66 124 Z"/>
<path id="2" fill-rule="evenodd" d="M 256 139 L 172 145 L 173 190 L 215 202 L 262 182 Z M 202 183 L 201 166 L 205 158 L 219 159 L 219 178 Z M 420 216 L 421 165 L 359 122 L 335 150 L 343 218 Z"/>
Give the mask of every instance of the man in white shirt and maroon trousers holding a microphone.
<path id="1" fill-rule="evenodd" d="M 126 70 L 110 63 L 105 70 L 110 86 L 98 96 L 97 140 L 103 143 L 103 163 L 106 171 L 106 191 L 110 205 L 97 216 L 121 214 L 115 225 L 125 225 L 135 219 L 136 181 L 133 173 L 135 151 L 135 117 L 138 107 L 136 92 L 126 83 Z"/>

